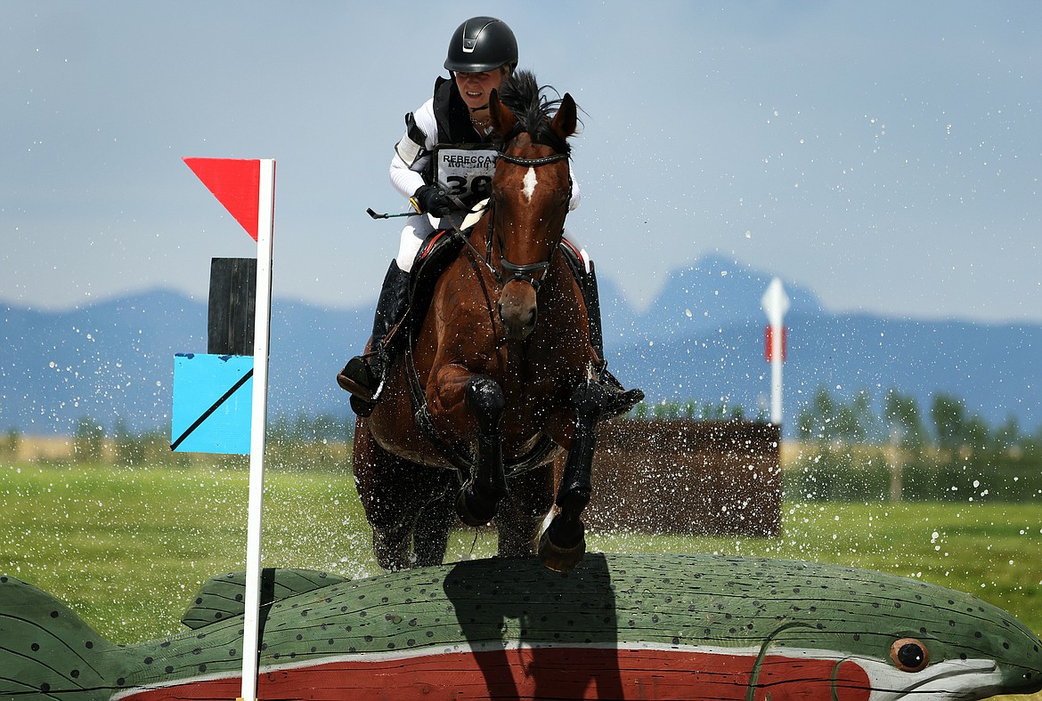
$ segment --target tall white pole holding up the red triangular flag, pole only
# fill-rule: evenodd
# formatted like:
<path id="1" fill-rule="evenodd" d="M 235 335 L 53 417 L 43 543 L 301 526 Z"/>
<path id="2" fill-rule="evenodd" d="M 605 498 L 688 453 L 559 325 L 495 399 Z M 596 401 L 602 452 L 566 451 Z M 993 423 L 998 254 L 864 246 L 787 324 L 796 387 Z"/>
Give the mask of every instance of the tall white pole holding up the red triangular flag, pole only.
<path id="1" fill-rule="evenodd" d="M 271 339 L 271 260 L 275 225 L 275 161 L 270 158 L 260 160 L 258 197 L 250 498 L 246 523 L 246 615 L 243 623 L 243 685 L 239 701 L 254 701 L 257 698 L 257 650 L 260 645 L 260 516 L 268 425 L 268 345 Z"/>

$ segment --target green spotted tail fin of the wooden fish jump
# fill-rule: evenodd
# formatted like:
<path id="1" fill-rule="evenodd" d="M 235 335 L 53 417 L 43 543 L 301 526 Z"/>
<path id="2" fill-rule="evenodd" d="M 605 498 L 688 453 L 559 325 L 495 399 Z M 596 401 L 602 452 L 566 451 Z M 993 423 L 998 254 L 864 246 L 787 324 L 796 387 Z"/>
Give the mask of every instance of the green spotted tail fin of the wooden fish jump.
<path id="1" fill-rule="evenodd" d="M 50 594 L 0 576 L 0 699 L 108 699 L 120 652 Z"/>

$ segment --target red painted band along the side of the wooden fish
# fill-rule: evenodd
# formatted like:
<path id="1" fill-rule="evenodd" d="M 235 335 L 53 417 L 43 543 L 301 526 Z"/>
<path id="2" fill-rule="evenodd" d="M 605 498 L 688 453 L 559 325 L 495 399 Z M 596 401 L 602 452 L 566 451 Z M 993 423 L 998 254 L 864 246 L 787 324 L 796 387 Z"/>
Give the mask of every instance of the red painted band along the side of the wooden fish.
<path id="1" fill-rule="evenodd" d="M 754 659 L 676 650 L 522 648 L 397 660 L 349 659 L 260 675 L 260 699 L 698 699 L 744 701 Z M 768 656 L 756 701 L 867 701 L 869 680 L 852 661 Z M 835 684 L 835 686 L 834 686 Z M 142 691 L 124 701 L 226 701 L 238 677 Z M 835 691 L 836 696 L 833 696 Z"/>

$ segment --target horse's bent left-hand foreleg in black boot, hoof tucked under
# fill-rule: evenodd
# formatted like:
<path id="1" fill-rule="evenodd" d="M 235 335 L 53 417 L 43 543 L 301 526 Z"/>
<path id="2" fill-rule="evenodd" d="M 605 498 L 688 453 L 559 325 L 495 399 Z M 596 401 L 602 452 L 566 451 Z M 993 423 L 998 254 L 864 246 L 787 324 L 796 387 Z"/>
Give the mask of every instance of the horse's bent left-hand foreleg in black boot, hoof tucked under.
<path id="1" fill-rule="evenodd" d="M 456 513 L 470 526 L 485 525 L 496 516 L 506 496 L 503 472 L 503 391 L 491 378 L 474 375 L 467 382 L 464 400 L 477 422 L 477 467 L 460 491 Z"/>

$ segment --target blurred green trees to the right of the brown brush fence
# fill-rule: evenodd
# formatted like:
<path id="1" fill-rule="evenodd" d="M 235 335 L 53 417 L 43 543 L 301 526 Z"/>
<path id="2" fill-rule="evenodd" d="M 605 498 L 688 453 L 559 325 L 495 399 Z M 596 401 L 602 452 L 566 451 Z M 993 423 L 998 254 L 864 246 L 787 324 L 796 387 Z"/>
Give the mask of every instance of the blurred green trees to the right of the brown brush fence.
<path id="1" fill-rule="evenodd" d="M 1042 427 L 991 424 L 958 396 L 921 407 L 888 390 L 844 398 L 819 388 L 796 417 L 790 500 L 1023 501 L 1042 498 Z"/>

